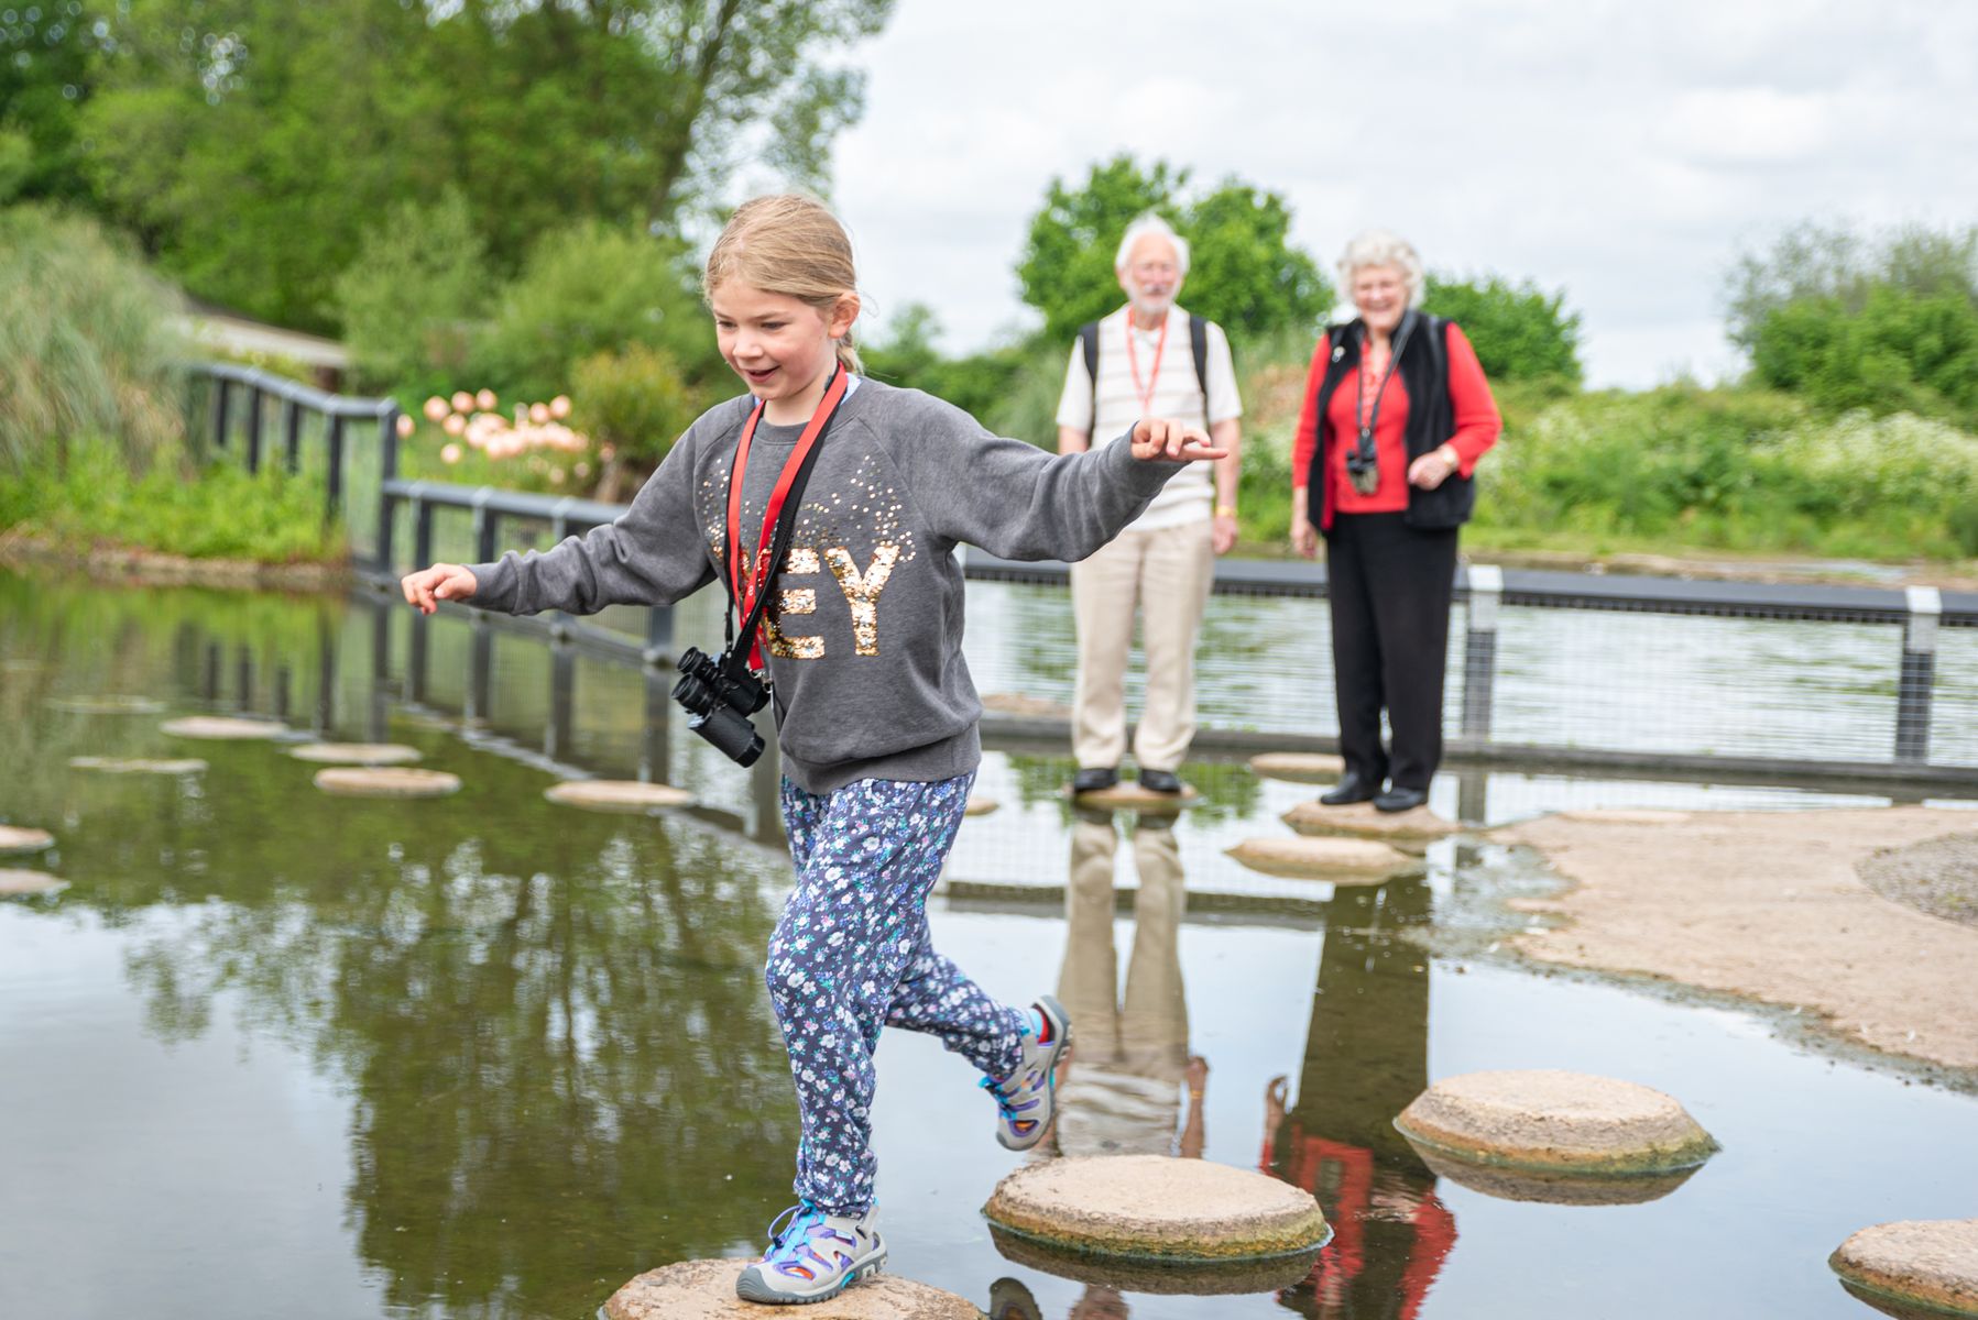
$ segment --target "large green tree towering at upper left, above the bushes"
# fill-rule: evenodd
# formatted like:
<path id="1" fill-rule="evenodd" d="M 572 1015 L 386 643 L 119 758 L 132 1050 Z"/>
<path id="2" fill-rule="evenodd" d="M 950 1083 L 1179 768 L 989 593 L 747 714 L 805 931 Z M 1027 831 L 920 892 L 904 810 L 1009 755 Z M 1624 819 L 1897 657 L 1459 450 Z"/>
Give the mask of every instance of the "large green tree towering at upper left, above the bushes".
<path id="1" fill-rule="evenodd" d="M 572 219 L 674 229 L 744 154 L 817 184 L 862 105 L 841 51 L 890 4 L 125 0 L 79 140 L 103 204 L 194 292 L 328 326 L 394 202 L 457 192 L 512 271 Z"/>

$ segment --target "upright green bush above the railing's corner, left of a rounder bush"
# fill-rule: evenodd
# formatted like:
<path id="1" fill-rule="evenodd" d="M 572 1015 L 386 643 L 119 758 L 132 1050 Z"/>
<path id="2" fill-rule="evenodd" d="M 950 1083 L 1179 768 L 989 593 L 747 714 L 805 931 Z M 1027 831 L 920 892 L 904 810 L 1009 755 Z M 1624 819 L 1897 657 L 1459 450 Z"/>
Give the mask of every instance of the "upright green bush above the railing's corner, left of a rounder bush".
<path id="1" fill-rule="evenodd" d="M 459 194 L 394 207 L 336 277 L 358 387 L 407 397 L 451 389 L 467 370 L 471 328 L 493 302 L 487 247 Z"/>

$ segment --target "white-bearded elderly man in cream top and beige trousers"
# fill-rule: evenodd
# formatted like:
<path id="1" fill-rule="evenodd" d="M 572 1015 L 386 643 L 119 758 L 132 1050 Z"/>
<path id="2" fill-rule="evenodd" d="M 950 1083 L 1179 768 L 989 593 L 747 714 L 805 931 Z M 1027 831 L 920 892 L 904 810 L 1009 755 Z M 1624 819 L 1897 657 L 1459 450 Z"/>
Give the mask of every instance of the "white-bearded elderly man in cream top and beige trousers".
<path id="1" fill-rule="evenodd" d="M 1074 792 L 1120 783 L 1125 755 L 1125 660 L 1141 609 L 1147 701 L 1133 735 L 1139 786 L 1181 792 L 1195 737 L 1195 630 L 1214 557 L 1236 543 L 1236 371 L 1222 328 L 1189 316 L 1175 298 L 1189 275 L 1189 241 L 1159 215 L 1141 215 L 1120 239 L 1114 273 L 1127 304 L 1088 324 L 1072 346 L 1058 403 L 1058 453 L 1127 431 L 1141 417 L 1201 419 L 1228 451 L 1181 470 L 1147 512 L 1084 563 L 1072 565 L 1078 617 L 1078 694 L 1072 703 Z"/>

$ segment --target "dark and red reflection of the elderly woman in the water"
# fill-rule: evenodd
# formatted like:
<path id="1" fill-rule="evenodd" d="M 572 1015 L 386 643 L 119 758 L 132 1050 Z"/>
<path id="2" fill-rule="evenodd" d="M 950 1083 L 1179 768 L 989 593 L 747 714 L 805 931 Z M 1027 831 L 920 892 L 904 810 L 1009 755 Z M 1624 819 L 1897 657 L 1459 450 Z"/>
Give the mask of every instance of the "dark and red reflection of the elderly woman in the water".
<path id="1" fill-rule="evenodd" d="M 1266 1093 L 1264 1168 L 1319 1197 L 1333 1243 L 1278 1300 L 1304 1316 L 1408 1320 L 1456 1245 L 1436 1180 L 1394 1130 L 1428 1085 L 1428 964 L 1396 927 L 1430 919 L 1428 885 L 1341 887 L 1325 913 L 1305 1067 Z"/>

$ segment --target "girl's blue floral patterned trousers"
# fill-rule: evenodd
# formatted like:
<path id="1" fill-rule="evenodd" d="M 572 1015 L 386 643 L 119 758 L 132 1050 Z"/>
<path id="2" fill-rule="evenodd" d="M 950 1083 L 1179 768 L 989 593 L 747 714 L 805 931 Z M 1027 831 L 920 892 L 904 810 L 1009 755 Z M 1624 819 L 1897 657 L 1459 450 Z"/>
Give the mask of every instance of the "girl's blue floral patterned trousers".
<path id="1" fill-rule="evenodd" d="M 934 952 L 928 891 L 975 775 L 862 779 L 827 794 L 783 781 L 797 889 L 764 980 L 797 1081 L 797 1196 L 833 1215 L 872 1205 L 872 1049 L 882 1026 L 930 1031 L 991 1077 L 1021 1055 L 1023 1012 Z"/>

